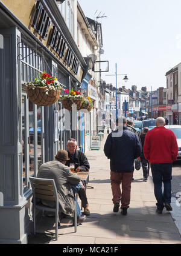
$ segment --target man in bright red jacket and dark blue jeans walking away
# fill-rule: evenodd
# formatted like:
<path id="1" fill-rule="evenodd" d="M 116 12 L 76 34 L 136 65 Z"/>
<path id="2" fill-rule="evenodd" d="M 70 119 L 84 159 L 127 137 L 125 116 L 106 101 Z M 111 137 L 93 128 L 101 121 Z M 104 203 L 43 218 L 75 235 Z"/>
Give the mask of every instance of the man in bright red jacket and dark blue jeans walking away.
<path id="1" fill-rule="evenodd" d="M 165 208 L 172 211 L 171 203 L 171 172 L 173 161 L 177 159 L 178 145 L 176 136 L 166 129 L 165 119 L 158 117 L 156 127 L 145 136 L 144 156 L 151 163 L 154 183 L 154 195 L 157 200 L 157 214 L 162 214 Z M 162 181 L 164 194 L 162 193 Z"/>

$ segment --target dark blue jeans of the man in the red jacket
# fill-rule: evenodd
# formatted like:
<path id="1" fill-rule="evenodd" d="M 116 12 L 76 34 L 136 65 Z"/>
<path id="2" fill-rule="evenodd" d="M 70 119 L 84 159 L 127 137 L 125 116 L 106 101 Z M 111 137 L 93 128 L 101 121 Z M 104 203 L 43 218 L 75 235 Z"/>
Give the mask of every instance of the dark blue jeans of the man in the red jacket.
<path id="1" fill-rule="evenodd" d="M 165 204 L 171 203 L 171 172 L 172 163 L 151 164 L 151 172 L 154 183 L 154 195 L 157 200 L 157 208 L 162 210 Z M 164 193 L 162 192 L 162 181 L 164 183 Z"/>

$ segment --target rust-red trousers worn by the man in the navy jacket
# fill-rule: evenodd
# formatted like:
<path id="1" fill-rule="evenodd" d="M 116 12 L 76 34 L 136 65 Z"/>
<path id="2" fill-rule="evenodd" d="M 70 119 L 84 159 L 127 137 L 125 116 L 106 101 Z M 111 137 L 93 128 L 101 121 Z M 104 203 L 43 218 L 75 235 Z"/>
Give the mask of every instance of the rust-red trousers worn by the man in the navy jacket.
<path id="1" fill-rule="evenodd" d="M 112 201 L 113 204 L 121 201 L 121 209 L 123 207 L 129 208 L 131 197 L 131 184 L 133 172 L 112 172 L 110 171 Z M 122 183 L 122 193 L 120 184 Z"/>

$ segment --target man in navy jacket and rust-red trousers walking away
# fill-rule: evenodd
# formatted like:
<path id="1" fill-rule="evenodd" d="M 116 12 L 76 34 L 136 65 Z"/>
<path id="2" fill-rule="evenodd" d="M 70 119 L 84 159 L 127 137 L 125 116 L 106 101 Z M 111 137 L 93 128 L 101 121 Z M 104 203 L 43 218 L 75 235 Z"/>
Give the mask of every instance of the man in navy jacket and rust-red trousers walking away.
<path id="1" fill-rule="evenodd" d="M 134 159 L 141 154 L 141 144 L 138 136 L 126 127 L 126 118 L 116 119 L 116 130 L 107 136 L 104 153 L 110 159 L 110 180 L 113 194 L 113 212 L 119 211 L 121 201 L 121 214 L 127 215 L 130 204 L 132 175 Z M 120 184 L 122 182 L 122 194 Z"/>

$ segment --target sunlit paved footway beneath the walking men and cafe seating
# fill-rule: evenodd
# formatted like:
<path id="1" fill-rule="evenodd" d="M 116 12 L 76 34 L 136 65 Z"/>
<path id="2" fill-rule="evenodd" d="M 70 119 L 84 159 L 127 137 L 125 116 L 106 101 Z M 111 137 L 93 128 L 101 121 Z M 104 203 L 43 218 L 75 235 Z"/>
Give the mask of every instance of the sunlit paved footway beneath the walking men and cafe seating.
<path id="1" fill-rule="evenodd" d="M 29 235 L 28 243 L 40 244 L 180 244 L 180 207 L 173 197 L 173 212 L 164 209 L 156 214 L 156 199 L 152 177 L 142 181 L 142 168 L 134 171 L 131 202 L 128 214 L 119 210 L 113 213 L 110 187 L 109 160 L 103 152 L 107 134 L 101 141 L 100 150 L 89 150 L 86 156 L 90 163 L 90 178 L 87 198 L 90 216 L 87 216 L 75 233 L 68 218 L 61 220 L 59 238 L 55 240 L 54 218 L 42 217 L 37 223 L 37 234 Z M 80 202 L 80 201 L 79 201 Z"/>

